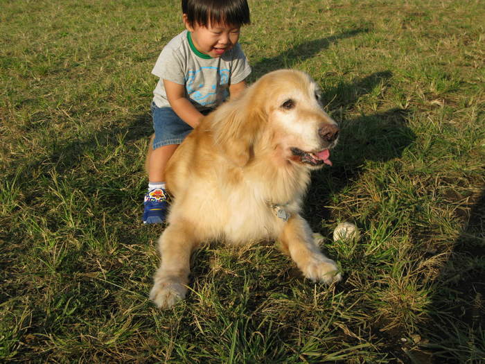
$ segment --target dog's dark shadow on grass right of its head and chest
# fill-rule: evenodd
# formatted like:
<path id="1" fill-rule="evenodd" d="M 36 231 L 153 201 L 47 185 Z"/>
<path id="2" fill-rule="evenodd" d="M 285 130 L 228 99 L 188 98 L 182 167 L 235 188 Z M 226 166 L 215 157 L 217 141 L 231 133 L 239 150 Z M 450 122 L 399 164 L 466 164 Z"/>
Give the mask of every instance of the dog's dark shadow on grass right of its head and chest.
<path id="1" fill-rule="evenodd" d="M 324 100 L 333 100 L 341 109 L 352 107 L 361 96 L 369 94 L 376 85 L 387 83 L 390 71 L 373 73 L 351 83 L 340 83 L 324 92 Z M 346 96 L 342 98 L 342 94 Z M 369 162 L 388 162 L 399 159 L 403 151 L 414 143 L 416 135 L 407 125 L 409 110 L 398 107 L 385 112 L 361 114 L 339 120 L 341 132 L 337 146 L 330 159 L 333 166 L 324 166 L 312 173 L 312 183 L 308 189 L 304 217 L 317 232 L 322 228 L 322 220 L 334 217 L 326 206 L 332 205 L 332 196 L 337 196 L 357 181 Z M 322 232 L 324 236 L 331 232 Z"/>

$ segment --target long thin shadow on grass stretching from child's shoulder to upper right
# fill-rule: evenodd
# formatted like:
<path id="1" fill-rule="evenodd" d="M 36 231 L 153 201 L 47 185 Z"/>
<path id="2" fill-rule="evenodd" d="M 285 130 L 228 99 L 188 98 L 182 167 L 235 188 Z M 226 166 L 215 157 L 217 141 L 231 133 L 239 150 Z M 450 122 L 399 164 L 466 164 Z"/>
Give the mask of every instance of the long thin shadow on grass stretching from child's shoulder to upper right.
<path id="1" fill-rule="evenodd" d="M 263 76 L 265 73 L 275 71 L 281 68 L 293 68 L 299 62 L 308 58 L 314 57 L 319 51 L 327 49 L 330 44 L 336 43 L 339 40 L 354 37 L 360 33 L 368 33 L 369 28 L 356 28 L 349 31 L 344 31 L 337 35 L 324 37 L 310 42 L 304 42 L 294 46 L 288 51 L 284 51 L 279 55 L 270 58 L 263 58 L 259 62 L 252 64 L 253 72 L 249 76 L 249 82 L 253 83 L 255 80 Z"/>

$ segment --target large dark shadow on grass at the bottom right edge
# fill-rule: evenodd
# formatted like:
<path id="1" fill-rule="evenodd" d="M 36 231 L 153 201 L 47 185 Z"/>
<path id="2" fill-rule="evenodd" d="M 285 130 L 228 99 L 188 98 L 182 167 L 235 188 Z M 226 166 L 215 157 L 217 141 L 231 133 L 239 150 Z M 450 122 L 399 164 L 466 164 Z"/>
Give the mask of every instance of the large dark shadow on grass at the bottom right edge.
<path id="1" fill-rule="evenodd" d="M 433 283 L 433 320 L 422 330 L 421 347 L 436 363 L 481 363 L 485 358 L 485 189 L 469 206 L 468 222 Z"/>

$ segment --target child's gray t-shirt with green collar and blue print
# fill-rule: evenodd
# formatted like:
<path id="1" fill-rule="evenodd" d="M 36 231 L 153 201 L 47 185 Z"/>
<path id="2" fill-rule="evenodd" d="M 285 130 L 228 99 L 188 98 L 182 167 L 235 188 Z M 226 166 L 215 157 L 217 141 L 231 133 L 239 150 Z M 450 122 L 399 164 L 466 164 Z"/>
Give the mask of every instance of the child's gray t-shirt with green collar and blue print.
<path id="1" fill-rule="evenodd" d="M 229 85 L 245 80 L 251 67 L 236 44 L 219 58 L 211 58 L 195 49 L 191 34 L 183 31 L 161 51 L 152 73 L 160 78 L 153 91 L 158 107 L 170 107 L 164 82 L 169 80 L 185 85 L 186 97 L 199 111 L 220 105 L 229 95 Z"/>

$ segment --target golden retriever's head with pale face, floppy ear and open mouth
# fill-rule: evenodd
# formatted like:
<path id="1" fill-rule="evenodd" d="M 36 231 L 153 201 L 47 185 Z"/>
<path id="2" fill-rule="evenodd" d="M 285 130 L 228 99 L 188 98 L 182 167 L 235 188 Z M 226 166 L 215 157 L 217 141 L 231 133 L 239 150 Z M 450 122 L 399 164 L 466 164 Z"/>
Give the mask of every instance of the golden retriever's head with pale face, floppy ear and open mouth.
<path id="1" fill-rule="evenodd" d="M 324 112 L 319 87 L 301 71 L 267 73 L 236 101 L 215 112 L 215 143 L 238 166 L 245 166 L 261 141 L 290 163 L 320 168 L 330 164 L 337 123 Z"/>

